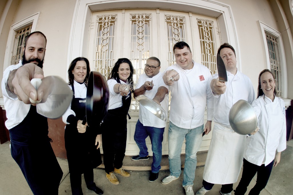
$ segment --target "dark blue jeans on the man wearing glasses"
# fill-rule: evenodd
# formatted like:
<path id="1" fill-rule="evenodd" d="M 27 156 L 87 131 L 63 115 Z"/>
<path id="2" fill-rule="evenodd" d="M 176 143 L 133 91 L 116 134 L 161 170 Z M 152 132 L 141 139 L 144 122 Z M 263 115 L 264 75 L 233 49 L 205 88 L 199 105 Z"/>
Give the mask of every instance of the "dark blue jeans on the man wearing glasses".
<path id="1" fill-rule="evenodd" d="M 139 148 L 139 156 L 145 157 L 149 153 L 147 151 L 146 138 L 149 136 L 151 139 L 151 150 L 153 151 L 153 163 L 151 164 L 151 172 L 157 173 L 161 169 L 162 160 L 162 141 L 163 141 L 163 128 L 144 126 L 137 120 L 134 132 L 134 140 Z"/>

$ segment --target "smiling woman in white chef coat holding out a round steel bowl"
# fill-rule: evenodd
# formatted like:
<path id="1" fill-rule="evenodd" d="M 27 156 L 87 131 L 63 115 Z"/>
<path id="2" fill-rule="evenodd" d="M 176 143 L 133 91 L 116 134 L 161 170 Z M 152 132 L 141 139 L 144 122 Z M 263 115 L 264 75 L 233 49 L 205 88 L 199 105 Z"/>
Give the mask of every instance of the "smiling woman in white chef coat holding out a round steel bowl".
<path id="1" fill-rule="evenodd" d="M 258 98 L 252 103 L 258 117 L 259 131 L 247 137 L 243 173 L 235 195 L 245 194 L 256 172 L 256 184 L 249 195 L 259 194 L 269 180 L 272 167 L 280 162 L 281 151 L 286 149 L 285 104 L 276 96 L 275 84 L 275 77 L 270 70 L 265 69 L 260 73 Z"/>

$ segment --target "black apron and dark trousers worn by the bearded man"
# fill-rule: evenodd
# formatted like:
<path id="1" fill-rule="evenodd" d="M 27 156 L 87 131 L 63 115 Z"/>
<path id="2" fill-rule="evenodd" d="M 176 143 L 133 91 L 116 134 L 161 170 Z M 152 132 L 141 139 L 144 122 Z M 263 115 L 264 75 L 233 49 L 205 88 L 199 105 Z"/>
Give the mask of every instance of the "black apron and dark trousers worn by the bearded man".
<path id="1" fill-rule="evenodd" d="M 11 156 L 21 168 L 33 194 L 58 194 L 63 172 L 48 137 L 47 118 L 30 106 L 21 123 L 9 130 Z"/>

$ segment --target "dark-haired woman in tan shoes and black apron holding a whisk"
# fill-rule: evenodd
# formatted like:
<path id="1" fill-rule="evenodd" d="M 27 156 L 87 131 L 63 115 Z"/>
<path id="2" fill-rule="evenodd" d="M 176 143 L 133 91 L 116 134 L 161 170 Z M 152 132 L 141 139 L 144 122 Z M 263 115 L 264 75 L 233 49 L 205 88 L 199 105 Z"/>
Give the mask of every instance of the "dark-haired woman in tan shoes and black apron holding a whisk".
<path id="1" fill-rule="evenodd" d="M 130 177 L 130 174 L 123 170 L 122 161 L 126 149 L 126 115 L 129 117 L 133 74 L 134 69 L 130 60 L 120 58 L 115 63 L 107 81 L 110 99 L 108 113 L 101 123 L 103 158 L 106 178 L 115 185 L 119 184 L 119 181 L 114 173 Z"/>

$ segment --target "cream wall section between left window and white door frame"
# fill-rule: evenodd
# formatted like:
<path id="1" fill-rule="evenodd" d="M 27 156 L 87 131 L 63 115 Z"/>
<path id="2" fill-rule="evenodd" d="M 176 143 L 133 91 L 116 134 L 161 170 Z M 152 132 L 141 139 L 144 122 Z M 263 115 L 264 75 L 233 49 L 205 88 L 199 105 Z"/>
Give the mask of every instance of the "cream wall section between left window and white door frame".
<path id="1" fill-rule="evenodd" d="M 12 24 L 40 12 L 36 30 L 47 37 L 43 68 L 45 76 L 67 78 L 67 50 L 75 4 L 74 0 L 22 0 L 15 12 Z"/>

